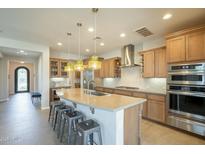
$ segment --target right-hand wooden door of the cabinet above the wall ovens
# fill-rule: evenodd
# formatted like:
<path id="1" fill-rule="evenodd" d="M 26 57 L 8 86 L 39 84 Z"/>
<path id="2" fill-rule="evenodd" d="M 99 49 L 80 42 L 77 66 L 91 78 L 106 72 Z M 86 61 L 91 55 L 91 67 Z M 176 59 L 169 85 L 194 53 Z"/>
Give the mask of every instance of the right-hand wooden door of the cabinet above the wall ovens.
<path id="1" fill-rule="evenodd" d="M 186 36 L 186 60 L 205 59 L 205 31 Z"/>

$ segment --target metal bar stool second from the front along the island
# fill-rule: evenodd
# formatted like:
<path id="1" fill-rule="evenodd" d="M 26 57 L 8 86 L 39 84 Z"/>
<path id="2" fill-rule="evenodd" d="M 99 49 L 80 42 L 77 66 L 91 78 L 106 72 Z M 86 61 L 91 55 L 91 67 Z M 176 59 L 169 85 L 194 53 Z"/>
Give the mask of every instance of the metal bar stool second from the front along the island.
<path id="1" fill-rule="evenodd" d="M 76 124 L 80 121 L 82 122 L 84 120 L 84 115 L 79 111 L 73 111 L 73 112 L 67 112 L 62 115 L 62 127 L 60 131 L 60 142 L 63 140 L 64 136 L 64 129 L 65 129 L 65 123 L 67 123 L 67 140 L 68 144 L 70 144 L 71 136 L 73 132 L 76 132 Z"/>

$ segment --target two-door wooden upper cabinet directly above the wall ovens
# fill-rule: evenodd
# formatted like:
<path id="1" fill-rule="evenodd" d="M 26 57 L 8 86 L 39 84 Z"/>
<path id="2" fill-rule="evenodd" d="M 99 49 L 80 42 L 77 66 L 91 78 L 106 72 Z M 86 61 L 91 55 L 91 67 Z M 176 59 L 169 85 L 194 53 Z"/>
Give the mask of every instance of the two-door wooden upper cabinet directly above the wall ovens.
<path id="1" fill-rule="evenodd" d="M 205 26 L 182 30 L 166 38 L 168 63 L 205 60 Z"/>

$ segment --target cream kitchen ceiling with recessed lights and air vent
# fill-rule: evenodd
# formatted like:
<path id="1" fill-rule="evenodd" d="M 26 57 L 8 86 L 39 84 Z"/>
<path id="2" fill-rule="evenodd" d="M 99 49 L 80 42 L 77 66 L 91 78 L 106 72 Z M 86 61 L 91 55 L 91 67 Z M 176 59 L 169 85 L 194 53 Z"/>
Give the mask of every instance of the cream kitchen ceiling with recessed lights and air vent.
<path id="1" fill-rule="evenodd" d="M 170 20 L 162 20 L 165 13 L 173 14 Z M 94 49 L 94 33 L 88 32 L 93 26 L 94 15 L 91 9 L 0 9 L 0 37 L 29 41 L 50 46 L 52 51 L 78 53 L 77 22 L 81 28 L 81 52 Z M 128 43 L 142 43 L 149 39 L 164 36 L 205 21 L 205 9 L 99 9 L 97 14 L 97 52 L 109 52 Z M 143 37 L 134 30 L 146 26 L 154 35 Z M 68 47 L 67 32 L 71 32 Z M 125 38 L 120 38 L 120 33 Z M 62 46 L 57 46 L 62 42 Z M 105 46 L 99 43 L 104 42 Z"/>

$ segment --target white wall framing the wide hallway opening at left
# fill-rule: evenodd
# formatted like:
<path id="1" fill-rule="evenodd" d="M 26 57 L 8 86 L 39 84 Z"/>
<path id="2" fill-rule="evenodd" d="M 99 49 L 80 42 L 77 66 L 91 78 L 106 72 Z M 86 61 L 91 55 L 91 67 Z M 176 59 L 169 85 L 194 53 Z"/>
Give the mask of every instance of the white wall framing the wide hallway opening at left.
<path id="1" fill-rule="evenodd" d="M 38 78 L 41 84 L 38 84 L 38 88 L 42 94 L 42 108 L 49 106 L 49 47 L 41 44 L 35 44 L 25 41 L 12 40 L 7 38 L 0 38 L 0 46 L 8 48 L 16 48 L 28 51 L 35 51 L 41 53 L 41 72 L 42 74 Z M 0 89 L 1 96 L 8 98 L 8 61 L 3 58 L 3 67 L 6 71 L 3 72 L 3 88 Z M 6 85 L 5 85 L 6 83 Z"/>

